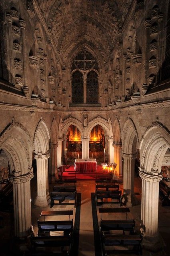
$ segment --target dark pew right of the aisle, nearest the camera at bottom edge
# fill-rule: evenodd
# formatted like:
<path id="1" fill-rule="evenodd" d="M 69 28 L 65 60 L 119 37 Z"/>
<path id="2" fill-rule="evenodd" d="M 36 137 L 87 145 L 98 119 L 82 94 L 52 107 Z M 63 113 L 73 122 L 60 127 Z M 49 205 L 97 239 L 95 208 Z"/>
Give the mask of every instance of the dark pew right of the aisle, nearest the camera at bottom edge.
<path id="1" fill-rule="evenodd" d="M 102 251 L 105 256 L 142 255 L 142 235 L 102 235 Z"/>

